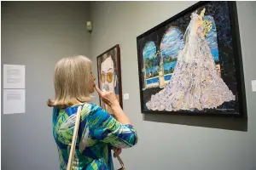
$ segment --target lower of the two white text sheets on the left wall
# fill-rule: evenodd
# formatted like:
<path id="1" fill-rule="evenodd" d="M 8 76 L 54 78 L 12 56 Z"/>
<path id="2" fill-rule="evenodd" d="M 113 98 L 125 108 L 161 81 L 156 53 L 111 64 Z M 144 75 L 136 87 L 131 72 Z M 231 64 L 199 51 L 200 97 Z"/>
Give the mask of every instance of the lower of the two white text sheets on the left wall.
<path id="1" fill-rule="evenodd" d="M 25 113 L 25 89 L 3 89 L 3 114 Z"/>

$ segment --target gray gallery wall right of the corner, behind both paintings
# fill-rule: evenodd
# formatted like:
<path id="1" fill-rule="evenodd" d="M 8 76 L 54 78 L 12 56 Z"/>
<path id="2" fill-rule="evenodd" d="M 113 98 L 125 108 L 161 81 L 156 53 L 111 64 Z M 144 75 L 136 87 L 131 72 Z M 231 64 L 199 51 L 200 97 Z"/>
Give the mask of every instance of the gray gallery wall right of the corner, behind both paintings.
<path id="1" fill-rule="evenodd" d="M 256 59 L 253 54 L 256 3 L 237 3 L 241 53 L 245 73 L 248 120 L 218 117 L 143 116 L 137 71 L 137 36 L 188 8 L 195 2 L 94 2 L 90 3 L 93 31 L 90 56 L 115 44 L 120 46 L 122 88 L 130 99 L 124 110 L 137 127 L 136 147 L 123 150 L 127 169 L 253 170 L 256 169 Z M 98 103 L 97 95 L 95 101 Z M 238 123 L 238 125 L 237 125 Z M 234 126 L 233 126 L 234 125 Z M 115 166 L 118 167 L 117 161 Z"/>

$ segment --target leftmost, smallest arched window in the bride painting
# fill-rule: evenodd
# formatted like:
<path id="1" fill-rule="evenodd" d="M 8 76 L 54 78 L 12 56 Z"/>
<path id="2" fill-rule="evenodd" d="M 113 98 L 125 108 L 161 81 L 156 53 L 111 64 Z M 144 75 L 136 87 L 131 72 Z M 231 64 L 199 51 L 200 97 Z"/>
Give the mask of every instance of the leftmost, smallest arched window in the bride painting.
<path id="1" fill-rule="evenodd" d="M 156 47 L 154 42 L 147 42 L 143 48 L 144 72 L 145 72 L 145 88 L 158 86 L 158 62 L 156 57 Z"/>

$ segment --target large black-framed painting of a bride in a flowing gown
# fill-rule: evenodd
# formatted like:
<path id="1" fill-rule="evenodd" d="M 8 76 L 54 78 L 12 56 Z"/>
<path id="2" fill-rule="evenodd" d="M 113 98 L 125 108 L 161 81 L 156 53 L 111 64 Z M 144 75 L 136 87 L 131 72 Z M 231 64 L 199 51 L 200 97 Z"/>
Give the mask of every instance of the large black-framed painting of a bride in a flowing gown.
<path id="1" fill-rule="evenodd" d="M 199 2 L 137 37 L 141 111 L 243 116 L 236 2 Z"/>

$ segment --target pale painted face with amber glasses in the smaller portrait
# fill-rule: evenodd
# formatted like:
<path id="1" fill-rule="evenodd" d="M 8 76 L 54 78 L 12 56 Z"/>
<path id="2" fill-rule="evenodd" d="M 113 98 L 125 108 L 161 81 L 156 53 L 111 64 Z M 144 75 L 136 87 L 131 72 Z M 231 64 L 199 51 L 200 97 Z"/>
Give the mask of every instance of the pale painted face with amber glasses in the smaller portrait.
<path id="1" fill-rule="evenodd" d="M 102 90 L 114 91 L 113 73 L 113 59 L 109 56 L 101 65 Z"/>

